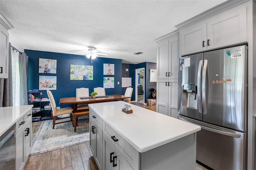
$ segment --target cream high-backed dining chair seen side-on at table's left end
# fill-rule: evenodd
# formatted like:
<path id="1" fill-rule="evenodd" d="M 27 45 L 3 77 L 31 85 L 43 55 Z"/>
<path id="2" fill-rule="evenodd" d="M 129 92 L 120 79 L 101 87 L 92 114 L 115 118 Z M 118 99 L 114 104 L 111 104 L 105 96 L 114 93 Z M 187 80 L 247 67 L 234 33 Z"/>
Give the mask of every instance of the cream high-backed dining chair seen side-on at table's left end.
<path id="1" fill-rule="evenodd" d="M 55 103 L 54 97 L 52 95 L 52 92 L 50 90 L 47 90 L 47 95 L 48 95 L 48 97 L 50 99 L 50 103 L 52 105 L 52 115 L 53 115 L 52 128 L 54 129 L 54 126 L 57 124 L 60 124 L 60 123 L 71 122 L 73 109 L 71 107 L 64 107 L 61 109 L 56 109 L 56 103 Z M 64 117 L 64 118 L 57 117 L 57 116 L 66 115 L 66 114 L 70 114 L 70 116 L 69 116 L 70 121 L 63 121 L 63 122 L 58 122 L 58 123 L 55 122 L 56 120 L 59 120 L 59 119 L 69 118 L 69 117 Z"/>

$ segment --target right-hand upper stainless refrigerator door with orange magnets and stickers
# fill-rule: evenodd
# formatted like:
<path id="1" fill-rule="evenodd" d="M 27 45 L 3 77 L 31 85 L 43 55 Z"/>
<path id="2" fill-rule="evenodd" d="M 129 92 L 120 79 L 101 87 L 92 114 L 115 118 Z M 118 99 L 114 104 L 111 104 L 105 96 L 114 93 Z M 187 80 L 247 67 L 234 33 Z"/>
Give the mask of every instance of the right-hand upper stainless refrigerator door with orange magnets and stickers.
<path id="1" fill-rule="evenodd" d="M 202 73 L 203 121 L 246 131 L 246 46 L 204 53 Z"/>

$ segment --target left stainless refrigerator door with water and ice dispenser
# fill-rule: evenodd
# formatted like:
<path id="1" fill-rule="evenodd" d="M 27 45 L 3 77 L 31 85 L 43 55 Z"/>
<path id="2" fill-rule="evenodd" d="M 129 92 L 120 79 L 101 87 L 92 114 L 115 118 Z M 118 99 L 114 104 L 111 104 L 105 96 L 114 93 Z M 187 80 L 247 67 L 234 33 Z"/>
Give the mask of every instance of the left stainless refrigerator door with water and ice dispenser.
<path id="1" fill-rule="evenodd" d="M 203 53 L 180 57 L 178 114 L 202 121 Z"/>

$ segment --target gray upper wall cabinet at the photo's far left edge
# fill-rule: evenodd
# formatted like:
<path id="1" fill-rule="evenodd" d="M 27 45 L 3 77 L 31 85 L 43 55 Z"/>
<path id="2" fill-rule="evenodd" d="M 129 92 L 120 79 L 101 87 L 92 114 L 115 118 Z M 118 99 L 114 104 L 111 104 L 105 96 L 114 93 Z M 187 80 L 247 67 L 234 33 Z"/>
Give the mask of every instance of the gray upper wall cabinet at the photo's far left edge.
<path id="1" fill-rule="evenodd" d="M 0 12 L 0 78 L 8 78 L 9 62 L 9 34 L 8 30 L 13 28 Z"/>

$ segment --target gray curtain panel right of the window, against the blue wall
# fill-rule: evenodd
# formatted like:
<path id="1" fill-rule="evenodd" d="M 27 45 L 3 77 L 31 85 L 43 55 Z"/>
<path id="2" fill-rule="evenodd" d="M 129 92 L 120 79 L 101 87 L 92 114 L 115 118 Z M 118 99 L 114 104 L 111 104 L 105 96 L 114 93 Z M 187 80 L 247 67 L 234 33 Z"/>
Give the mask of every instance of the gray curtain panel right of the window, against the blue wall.
<path id="1" fill-rule="evenodd" d="M 28 105 L 28 56 L 26 53 L 19 53 L 19 71 L 20 71 L 20 104 Z"/>

